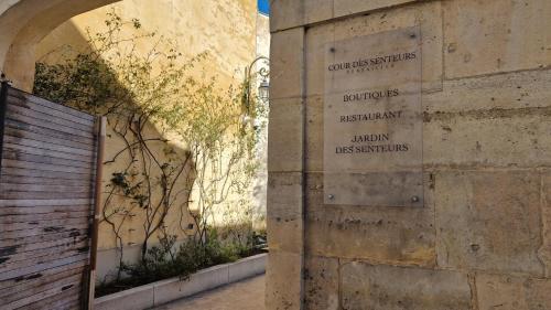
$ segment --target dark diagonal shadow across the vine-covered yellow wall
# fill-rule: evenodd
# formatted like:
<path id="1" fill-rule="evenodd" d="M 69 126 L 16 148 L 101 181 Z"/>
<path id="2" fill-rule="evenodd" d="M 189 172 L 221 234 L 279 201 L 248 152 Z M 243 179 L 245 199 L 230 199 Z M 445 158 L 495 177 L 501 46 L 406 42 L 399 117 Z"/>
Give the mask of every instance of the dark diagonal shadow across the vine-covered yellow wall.
<path id="1" fill-rule="evenodd" d="M 166 132 L 153 124 L 154 111 L 148 108 L 161 101 L 141 106 L 136 89 L 119 81 L 117 70 L 123 70 L 122 75 L 147 83 L 145 68 L 108 64 L 72 23 L 65 23 L 62 33 L 56 40 L 71 47 L 39 60 L 33 93 L 108 118 L 98 255 L 98 276 L 105 278 L 122 261 L 143 257 L 159 236 L 195 233 L 188 212 L 194 163 L 190 150 L 169 142 Z M 111 44 L 104 51 L 121 47 L 102 44 Z"/>

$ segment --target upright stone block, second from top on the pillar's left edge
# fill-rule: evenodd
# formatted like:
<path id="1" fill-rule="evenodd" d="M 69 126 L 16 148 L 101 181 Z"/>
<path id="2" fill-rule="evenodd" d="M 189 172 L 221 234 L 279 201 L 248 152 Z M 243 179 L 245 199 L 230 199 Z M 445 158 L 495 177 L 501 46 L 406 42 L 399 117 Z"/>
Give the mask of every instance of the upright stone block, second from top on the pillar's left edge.
<path id="1" fill-rule="evenodd" d="M 301 97 L 304 71 L 304 29 L 295 28 L 271 35 L 270 99 Z"/>

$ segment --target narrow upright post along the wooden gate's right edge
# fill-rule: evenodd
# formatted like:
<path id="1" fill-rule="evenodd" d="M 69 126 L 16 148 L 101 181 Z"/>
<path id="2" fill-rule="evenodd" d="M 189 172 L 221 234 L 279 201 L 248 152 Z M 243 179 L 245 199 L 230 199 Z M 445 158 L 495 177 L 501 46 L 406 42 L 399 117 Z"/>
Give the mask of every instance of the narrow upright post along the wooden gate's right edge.
<path id="1" fill-rule="evenodd" d="M 94 197 L 94 222 L 91 226 L 91 245 L 90 245 L 90 275 L 89 275 L 89 289 L 88 289 L 88 309 L 94 309 L 94 293 L 96 284 L 96 264 L 98 250 L 98 226 L 99 226 L 99 209 L 101 206 L 101 178 L 104 170 L 104 150 L 105 150 L 105 135 L 106 135 L 107 118 L 105 116 L 97 119 L 97 154 L 96 154 L 96 182 L 95 182 L 95 197 Z"/>

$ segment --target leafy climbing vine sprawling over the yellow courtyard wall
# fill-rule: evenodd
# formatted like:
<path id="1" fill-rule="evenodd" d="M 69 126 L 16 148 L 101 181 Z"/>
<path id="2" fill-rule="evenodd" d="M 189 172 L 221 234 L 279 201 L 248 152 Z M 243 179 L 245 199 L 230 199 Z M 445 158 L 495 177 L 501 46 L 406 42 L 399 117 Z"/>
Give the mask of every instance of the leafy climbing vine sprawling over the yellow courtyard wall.
<path id="1" fill-rule="evenodd" d="M 37 62 L 34 94 L 108 119 L 101 225 L 112 232 L 119 265 L 137 221 L 142 263 L 155 238 L 169 255 L 182 235 L 204 247 L 213 236 L 247 246 L 261 130 L 247 120 L 264 107 L 244 100 L 248 86 L 219 89 L 198 74 L 207 53 L 185 60 L 170 40 L 115 11 L 105 25 L 87 30 L 86 51 L 64 46 L 52 52 L 62 62 Z M 143 45 L 149 52 L 139 53 Z"/>

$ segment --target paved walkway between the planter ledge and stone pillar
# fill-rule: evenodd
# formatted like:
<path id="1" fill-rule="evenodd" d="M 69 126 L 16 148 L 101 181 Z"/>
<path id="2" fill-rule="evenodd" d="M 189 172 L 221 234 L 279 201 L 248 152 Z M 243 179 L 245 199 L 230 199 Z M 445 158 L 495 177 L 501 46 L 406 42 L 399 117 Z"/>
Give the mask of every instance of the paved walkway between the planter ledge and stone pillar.
<path id="1" fill-rule="evenodd" d="M 154 310 L 263 310 L 264 276 L 230 284 Z"/>

